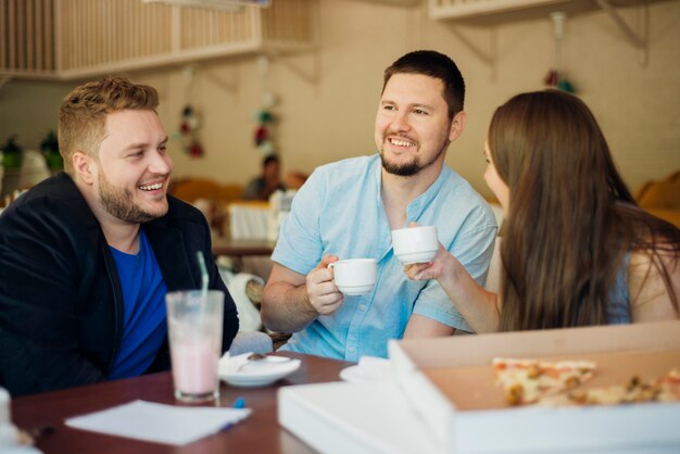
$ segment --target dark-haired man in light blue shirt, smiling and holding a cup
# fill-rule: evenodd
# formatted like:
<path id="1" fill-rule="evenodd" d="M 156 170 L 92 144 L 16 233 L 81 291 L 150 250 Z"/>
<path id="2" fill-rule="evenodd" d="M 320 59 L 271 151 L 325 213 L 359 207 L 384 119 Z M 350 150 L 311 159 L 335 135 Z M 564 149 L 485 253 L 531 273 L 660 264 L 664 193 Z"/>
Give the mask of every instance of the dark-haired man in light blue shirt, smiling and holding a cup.
<path id="1" fill-rule="evenodd" d="M 265 325 L 294 332 L 282 350 L 357 361 L 386 356 L 389 339 L 470 331 L 437 281 L 407 279 L 390 235 L 413 222 L 437 226 L 440 242 L 483 285 L 495 219 L 444 164 L 465 127 L 464 96 L 451 59 L 407 53 L 385 72 L 379 153 L 322 166 L 295 194 L 262 299 Z M 328 265 L 361 257 L 377 261 L 376 285 L 343 295 Z"/>

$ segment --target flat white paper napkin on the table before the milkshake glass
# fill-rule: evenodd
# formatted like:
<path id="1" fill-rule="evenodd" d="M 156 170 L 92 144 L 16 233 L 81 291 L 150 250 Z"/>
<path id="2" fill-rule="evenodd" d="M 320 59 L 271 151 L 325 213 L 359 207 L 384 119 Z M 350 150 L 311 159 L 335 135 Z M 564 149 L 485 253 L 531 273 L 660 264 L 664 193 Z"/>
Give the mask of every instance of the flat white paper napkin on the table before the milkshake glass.
<path id="1" fill-rule="evenodd" d="M 250 415 L 249 408 L 189 407 L 134 401 L 66 419 L 66 426 L 155 443 L 184 445 Z"/>

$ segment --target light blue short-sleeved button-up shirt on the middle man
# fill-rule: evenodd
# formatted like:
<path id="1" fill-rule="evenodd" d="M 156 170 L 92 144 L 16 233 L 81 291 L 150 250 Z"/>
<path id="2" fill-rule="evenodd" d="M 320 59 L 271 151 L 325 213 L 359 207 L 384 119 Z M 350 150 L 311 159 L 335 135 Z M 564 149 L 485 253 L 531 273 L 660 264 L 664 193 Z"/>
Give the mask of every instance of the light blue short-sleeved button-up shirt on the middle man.
<path id="1" fill-rule="evenodd" d="M 471 331 L 436 280 L 413 281 L 392 251 L 380 197 L 378 154 L 318 167 L 295 194 L 272 260 L 306 275 L 326 254 L 375 258 L 378 279 L 364 295 L 344 295 L 331 315 L 295 332 L 281 350 L 358 361 L 387 356 L 389 339 L 401 339 L 412 313 Z M 483 285 L 496 224 L 486 201 L 444 165 L 437 180 L 411 202 L 408 223 L 437 226 L 439 241 Z"/>

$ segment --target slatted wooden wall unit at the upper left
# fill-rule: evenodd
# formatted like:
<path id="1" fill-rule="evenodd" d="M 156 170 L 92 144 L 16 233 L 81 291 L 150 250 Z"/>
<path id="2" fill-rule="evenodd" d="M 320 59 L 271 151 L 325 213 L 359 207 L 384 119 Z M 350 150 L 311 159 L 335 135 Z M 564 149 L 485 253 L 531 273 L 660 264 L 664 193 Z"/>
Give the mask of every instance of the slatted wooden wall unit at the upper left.
<path id="1" fill-rule="evenodd" d="M 79 79 L 229 55 L 314 49 L 317 0 L 236 12 L 141 0 L 0 0 L 0 78 Z M 30 8 L 28 7 L 30 5 Z"/>

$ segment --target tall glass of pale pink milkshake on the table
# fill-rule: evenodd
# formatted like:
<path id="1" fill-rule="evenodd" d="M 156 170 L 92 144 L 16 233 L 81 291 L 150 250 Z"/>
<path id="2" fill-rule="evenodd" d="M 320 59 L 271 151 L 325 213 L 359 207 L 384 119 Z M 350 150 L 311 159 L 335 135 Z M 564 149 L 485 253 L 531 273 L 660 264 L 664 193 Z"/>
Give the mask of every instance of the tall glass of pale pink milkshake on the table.
<path id="1" fill-rule="evenodd" d="M 175 398 L 185 402 L 219 398 L 224 292 L 174 291 L 165 295 Z"/>

